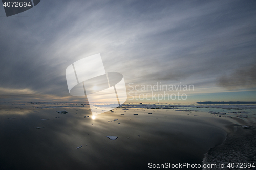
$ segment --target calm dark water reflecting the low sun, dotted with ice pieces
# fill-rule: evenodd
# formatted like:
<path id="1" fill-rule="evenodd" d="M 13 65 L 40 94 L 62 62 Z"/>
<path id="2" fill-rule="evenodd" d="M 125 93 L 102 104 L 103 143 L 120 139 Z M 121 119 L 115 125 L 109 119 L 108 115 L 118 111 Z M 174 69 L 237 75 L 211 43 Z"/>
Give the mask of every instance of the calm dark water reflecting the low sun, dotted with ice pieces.
<path id="1" fill-rule="evenodd" d="M 1 103 L 0 169 L 148 169 L 148 163 L 202 164 L 210 148 L 222 144 L 238 126 L 252 125 L 255 120 L 254 109 L 244 113 L 248 118 L 239 118 L 241 113 L 230 113 L 238 110 L 221 107 L 198 111 L 190 106 L 176 107 L 191 111 L 162 109 L 162 105 L 139 107 L 123 106 L 92 119 L 89 106 L 80 103 Z M 61 110 L 68 113 L 57 113 Z M 209 110 L 227 114 L 219 117 Z"/>

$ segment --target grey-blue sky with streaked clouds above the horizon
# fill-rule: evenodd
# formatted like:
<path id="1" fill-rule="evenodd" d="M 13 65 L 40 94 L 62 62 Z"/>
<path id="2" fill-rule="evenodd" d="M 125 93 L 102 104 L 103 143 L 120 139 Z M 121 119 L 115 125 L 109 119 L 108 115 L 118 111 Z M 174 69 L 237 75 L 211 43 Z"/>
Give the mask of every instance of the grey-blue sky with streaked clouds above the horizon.
<path id="1" fill-rule="evenodd" d="M 41 0 L 9 17 L 0 7 L 0 101 L 83 102 L 65 70 L 98 53 L 123 75 L 126 102 L 256 101 L 255 18 L 255 1 Z M 160 83 L 194 88 L 136 100 L 164 94 L 136 85 Z"/>

